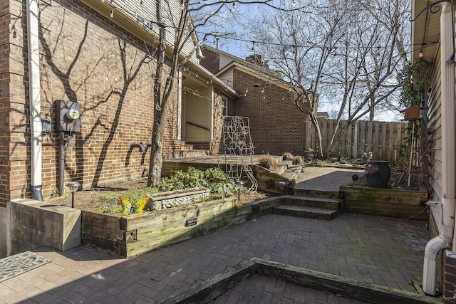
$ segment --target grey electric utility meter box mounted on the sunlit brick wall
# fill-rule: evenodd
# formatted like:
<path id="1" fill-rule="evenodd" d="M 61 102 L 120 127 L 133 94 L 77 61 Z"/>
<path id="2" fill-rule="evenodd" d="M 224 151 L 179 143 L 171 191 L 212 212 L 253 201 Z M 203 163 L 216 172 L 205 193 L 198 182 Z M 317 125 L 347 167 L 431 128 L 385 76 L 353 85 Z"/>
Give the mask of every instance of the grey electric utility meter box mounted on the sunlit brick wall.
<path id="1" fill-rule="evenodd" d="M 81 132 L 81 104 L 69 100 L 56 100 L 56 130 Z"/>

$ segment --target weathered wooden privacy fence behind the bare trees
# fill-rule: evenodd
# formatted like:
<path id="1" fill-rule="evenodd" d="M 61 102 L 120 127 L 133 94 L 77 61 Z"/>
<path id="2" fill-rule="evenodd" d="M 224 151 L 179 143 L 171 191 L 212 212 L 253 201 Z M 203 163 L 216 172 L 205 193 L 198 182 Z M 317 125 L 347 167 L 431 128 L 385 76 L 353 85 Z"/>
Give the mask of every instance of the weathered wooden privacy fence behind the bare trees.
<path id="1" fill-rule="evenodd" d="M 323 140 L 323 150 L 329 146 L 337 120 L 318 119 Z M 340 128 L 345 127 L 346 120 L 341 120 Z M 400 147 L 403 145 L 408 122 L 371 122 L 357 121 L 338 137 L 335 137 L 336 148 L 333 154 L 341 152 L 342 157 L 359 158 L 363 152 L 372 152 L 374 159 L 388 160 L 395 164 L 399 160 Z M 309 120 L 306 122 L 306 148 L 319 150 L 316 127 Z"/>

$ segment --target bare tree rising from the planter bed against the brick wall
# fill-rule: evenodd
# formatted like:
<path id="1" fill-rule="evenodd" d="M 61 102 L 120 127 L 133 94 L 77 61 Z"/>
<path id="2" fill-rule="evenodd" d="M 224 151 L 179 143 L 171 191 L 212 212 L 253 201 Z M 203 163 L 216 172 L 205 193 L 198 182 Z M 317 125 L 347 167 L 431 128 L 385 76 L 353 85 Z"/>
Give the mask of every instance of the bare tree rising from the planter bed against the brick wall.
<path id="1" fill-rule="evenodd" d="M 155 0 L 155 20 L 159 27 L 157 65 L 154 80 L 154 125 L 152 149 L 147 179 L 148 186 L 160 183 L 162 171 L 162 142 L 170 108 L 170 96 L 175 85 L 178 70 L 192 60 L 199 45 L 209 36 L 223 36 L 229 33 L 222 21 L 232 14 L 237 4 L 261 4 L 279 9 L 272 0 L 263 1 L 190 1 Z M 180 7 L 176 10 L 176 7 Z M 204 28 L 199 38 L 197 29 Z M 214 30 L 213 30 L 214 29 Z M 169 65 L 165 66 L 167 42 L 172 47 Z M 191 46 L 191 47 L 190 47 Z M 164 85 L 163 85 L 164 83 Z"/>

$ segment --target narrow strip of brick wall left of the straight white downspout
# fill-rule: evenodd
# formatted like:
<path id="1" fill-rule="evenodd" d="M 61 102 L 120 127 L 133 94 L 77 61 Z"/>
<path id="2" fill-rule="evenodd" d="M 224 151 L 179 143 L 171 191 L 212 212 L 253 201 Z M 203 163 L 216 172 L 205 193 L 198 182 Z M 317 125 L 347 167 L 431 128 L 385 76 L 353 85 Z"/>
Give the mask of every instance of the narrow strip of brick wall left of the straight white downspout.
<path id="1" fill-rule="evenodd" d="M 27 58 L 23 38 L 26 24 L 21 19 L 21 1 L 1 6 L 1 57 L 0 57 L 0 204 L 6 204 L 10 194 L 24 196 L 29 171 L 30 127 L 28 126 L 28 91 L 24 87 Z"/>

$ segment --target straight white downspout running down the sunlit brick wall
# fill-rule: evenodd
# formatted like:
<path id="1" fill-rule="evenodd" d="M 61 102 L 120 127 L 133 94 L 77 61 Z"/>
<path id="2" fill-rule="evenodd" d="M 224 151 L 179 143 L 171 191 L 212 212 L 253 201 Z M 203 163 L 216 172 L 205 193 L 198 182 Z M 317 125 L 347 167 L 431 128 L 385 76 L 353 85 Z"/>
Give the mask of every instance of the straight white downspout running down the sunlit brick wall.
<path id="1" fill-rule="evenodd" d="M 38 39 L 38 3 L 27 0 L 28 94 L 31 129 L 31 190 L 32 198 L 43 200 L 41 193 L 41 98 Z"/>

